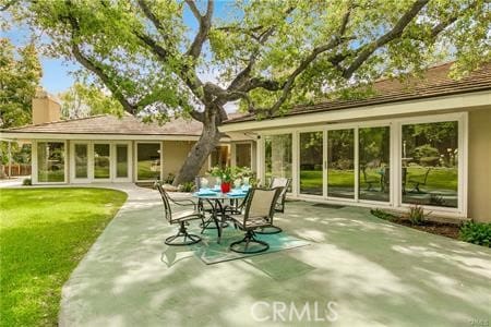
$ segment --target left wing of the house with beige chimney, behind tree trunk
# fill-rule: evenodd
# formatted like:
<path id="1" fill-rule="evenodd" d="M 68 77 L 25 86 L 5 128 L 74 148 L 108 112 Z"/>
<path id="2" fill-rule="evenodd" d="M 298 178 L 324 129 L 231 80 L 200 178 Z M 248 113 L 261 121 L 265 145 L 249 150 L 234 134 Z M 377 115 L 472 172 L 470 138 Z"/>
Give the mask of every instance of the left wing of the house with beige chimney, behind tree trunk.
<path id="1" fill-rule="evenodd" d="M 148 182 L 177 174 L 202 132 L 196 121 L 142 123 L 131 114 L 60 120 L 60 105 L 46 93 L 33 100 L 34 124 L 1 131 L 1 138 L 31 142 L 33 184 Z M 235 133 L 230 133 L 233 135 Z M 224 137 L 202 167 L 255 169 L 251 137 Z M 231 150 L 238 155 L 231 157 Z"/>

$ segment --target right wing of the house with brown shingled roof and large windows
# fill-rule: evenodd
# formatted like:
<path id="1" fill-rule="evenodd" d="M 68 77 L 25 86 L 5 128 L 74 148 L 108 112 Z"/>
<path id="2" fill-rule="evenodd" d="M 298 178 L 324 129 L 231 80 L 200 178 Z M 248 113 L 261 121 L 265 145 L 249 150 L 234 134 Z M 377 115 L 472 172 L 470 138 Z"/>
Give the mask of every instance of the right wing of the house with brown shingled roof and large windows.
<path id="1" fill-rule="evenodd" d="M 223 131 L 256 135 L 259 175 L 290 177 L 290 197 L 491 221 L 491 64 L 459 81 L 448 69 Z"/>

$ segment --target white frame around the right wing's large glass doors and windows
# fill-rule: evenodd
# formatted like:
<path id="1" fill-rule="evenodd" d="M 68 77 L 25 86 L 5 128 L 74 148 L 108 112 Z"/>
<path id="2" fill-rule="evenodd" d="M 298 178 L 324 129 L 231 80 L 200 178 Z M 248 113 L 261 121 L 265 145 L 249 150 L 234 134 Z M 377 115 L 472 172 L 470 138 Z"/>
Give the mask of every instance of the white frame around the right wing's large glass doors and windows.
<path id="1" fill-rule="evenodd" d="M 436 123 L 445 121 L 458 122 L 458 204 L 456 208 L 423 205 L 427 210 L 436 214 L 445 214 L 454 217 L 467 217 L 467 189 L 468 189 L 468 112 L 453 112 L 444 114 L 412 116 L 392 119 L 367 120 L 347 123 L 324 123 L 304 128 L 282 128 L 267 131 L 258 131 L 258 174 L 264 181 L 265 178 L 265 136 L 291 134 L 292 136 L 292 192 L 289 196 L 300 199 L 322 201 L 333 204 L 359 205 L 364 207 L 381 207 L 407 210 L 411 204 L 402 202 L 402 126 L 406 124 Z M 359 198 L 359 129 L 361 128 L 390 128 L 390 199 L 378 202 Z M 355 199 L 327 196 L 327 131 L 355 129 Z M 300 191 L 300 133 L 323 131 L 323 195 L 307 195 Z"/>

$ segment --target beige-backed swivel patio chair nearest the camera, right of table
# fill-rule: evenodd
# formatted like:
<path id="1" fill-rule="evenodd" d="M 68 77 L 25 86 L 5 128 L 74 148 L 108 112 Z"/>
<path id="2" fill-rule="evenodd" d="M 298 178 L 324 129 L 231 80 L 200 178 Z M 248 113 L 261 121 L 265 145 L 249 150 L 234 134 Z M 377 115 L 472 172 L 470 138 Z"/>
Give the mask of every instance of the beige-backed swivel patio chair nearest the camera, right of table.
<path id="1" fill-rule="evenodd" d="M 246 231 L 242 240 L 230 244 L 230 251 L 249 254 L 264 252 L 270 249 L 270 244 L 255 238 L 255 232 L 260 228 L 272 226 L 275 204 L 280 192 L 280 187 L 251 189 L 249 191 L 243 215 L 229 216 L 239 229 Z M 259 245 L 259 249 L 250 250 L 251 243 Z"/>

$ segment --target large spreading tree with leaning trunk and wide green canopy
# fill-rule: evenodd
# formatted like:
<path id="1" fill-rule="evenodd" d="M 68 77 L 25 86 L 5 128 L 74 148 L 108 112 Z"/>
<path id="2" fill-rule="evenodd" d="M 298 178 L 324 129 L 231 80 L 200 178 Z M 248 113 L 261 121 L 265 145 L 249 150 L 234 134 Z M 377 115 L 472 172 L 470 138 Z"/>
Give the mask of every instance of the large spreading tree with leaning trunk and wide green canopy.
<path id="1" fill-rule="evenodd" d="M 192 180 L 217 145 L 228 102 L 264 118 L 357 81 L 421 72 L 445 49 L 457 73 L 490 58 L 484 0 L 227 3 L 220 16 L 213 0 L 38 0 L 9 11 L 47 33 L 53 55 L 79 61 L 128 112 L 203 123 L 175 184 Z M 202 77 L 212 70 L 217 82 Z"/>

